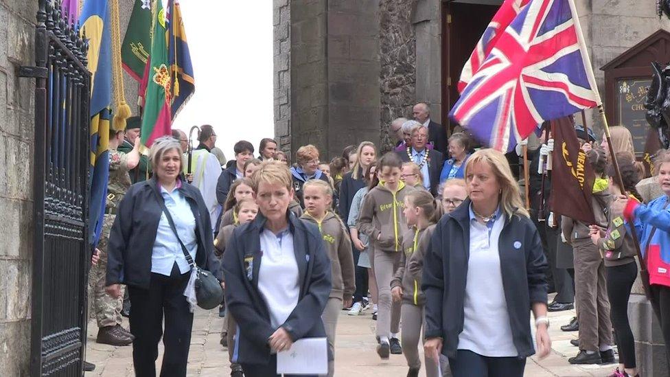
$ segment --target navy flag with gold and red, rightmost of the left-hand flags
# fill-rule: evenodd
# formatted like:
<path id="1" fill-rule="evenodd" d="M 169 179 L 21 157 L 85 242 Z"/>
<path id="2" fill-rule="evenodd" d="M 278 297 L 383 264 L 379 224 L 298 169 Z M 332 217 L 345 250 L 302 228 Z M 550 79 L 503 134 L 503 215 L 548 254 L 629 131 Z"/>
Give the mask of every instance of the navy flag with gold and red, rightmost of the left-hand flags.
<path id="1" fill-rule="evenodd" d="M 193 78 L 193 65 L 184 20 L 181 16 L 181 7 L 178 0 L 170 0 L 170 32 L 167 41 L 170 72 L 172 73 L 172 119 L 181 111 L 186 102 L 196 91 L 196 82 Z"/>

